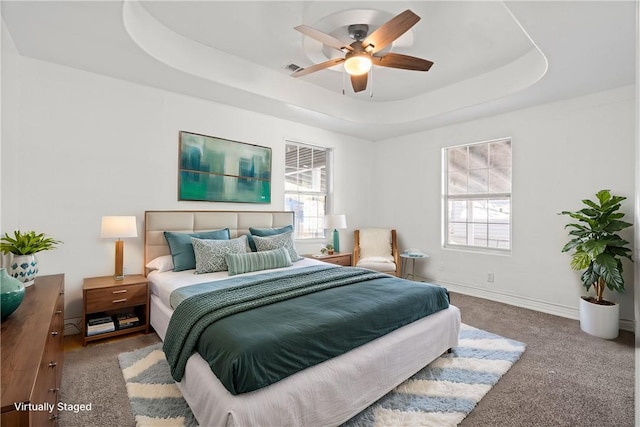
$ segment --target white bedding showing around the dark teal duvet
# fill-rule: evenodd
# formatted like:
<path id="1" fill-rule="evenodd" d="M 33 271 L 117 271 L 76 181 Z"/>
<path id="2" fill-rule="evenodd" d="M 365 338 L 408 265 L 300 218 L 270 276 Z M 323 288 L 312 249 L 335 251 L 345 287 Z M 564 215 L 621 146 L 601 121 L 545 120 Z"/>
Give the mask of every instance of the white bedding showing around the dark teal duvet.
<path id="1" fill-rule="evenodd" d="M 289 268 L 319 262 L 305 259 Z M 227 277 L 226 272 L 195 275 L 193 270 L 150 273 L 151 325 L 158 335 L 165 337 L 173 311 L 168 301 L 174 289 Z M 203 426 L 337 425 L 457 345 L 459 328 L 460 312 L 450 306 L 339 357 L 241 395 L 229 393 L 195 353 L 178 387 Z"/>

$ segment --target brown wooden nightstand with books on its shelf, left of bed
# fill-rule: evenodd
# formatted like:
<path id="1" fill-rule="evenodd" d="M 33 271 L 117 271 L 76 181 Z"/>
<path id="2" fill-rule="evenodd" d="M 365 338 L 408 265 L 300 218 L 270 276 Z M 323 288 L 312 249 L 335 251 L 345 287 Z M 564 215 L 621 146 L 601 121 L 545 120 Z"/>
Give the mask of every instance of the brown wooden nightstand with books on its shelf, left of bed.
<path id="1" fill-rule="evenodd" d="M 134 313 L 139 325 L 87 336 L 87 320 L 95 317 Z M 149 282 L 141 274 L 115 280 L 113 276 L 89 277 L 82 285 L 82 345 L 89 341 L 132 332 L 149 333 Z"/>

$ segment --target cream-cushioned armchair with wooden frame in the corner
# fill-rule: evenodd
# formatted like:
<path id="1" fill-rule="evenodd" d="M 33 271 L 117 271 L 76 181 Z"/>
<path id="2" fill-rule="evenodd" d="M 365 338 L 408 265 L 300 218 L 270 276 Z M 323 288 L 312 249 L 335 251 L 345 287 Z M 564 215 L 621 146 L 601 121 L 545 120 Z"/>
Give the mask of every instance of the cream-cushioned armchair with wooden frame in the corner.
<path id="1" fill-rule="evenodd" d="M 355 230 L 352 265 L 399 276 L 400 256 L 396 230 L 382 228 Z"/>

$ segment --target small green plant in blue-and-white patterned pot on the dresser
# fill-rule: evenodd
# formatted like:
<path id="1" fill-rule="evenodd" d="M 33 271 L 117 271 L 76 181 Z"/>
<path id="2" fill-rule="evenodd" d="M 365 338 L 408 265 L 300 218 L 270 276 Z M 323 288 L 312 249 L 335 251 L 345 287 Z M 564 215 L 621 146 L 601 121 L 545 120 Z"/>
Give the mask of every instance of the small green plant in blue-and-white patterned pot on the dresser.
<path id="1" fill-rule="evenodd" d="M 5 233 L 0 238 L 0 251 L 7 255 L 12 254 L 9 265 L 9 273 L 16 279 L 24 282 L 25 286 L 31 286 L 38 274 L 38 260 L 35 254 L 42 251 L 55 249 L 58 243 L 62 243 L 44 233 L 35 231 L 21 232 L 16 230 L 13 237 Z"/>

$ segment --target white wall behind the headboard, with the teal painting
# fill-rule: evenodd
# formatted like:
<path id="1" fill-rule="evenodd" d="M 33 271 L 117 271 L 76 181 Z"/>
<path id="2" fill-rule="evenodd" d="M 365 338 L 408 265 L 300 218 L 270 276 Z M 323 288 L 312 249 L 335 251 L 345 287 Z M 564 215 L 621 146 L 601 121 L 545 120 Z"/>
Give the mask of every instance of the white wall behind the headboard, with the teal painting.
<path id="1" fill-rule="evenodd" d="M 354 226 L 368 213 L 371 142 L 47 62 L 18 61 L 19 77 L 3 81 L 19 87 L 19 96 L 10 106 L 17 132 L 3 134 L 1 230 L 34 229 L 64 242 L 38 258 L 40 274 L 66 275 L 67 318 L 81 315 L 84 277 L 113 274 L 114 243 L 100 238 L 103 215 L 138 218 L 139 237 L 125 242 L 125 272 L 141 273 L 145 210 L 282 210 L 287 138 L 333 148 L 336 211 Z M 178 202 L 180 130 L 272 147 L 272 203 Z M 346 248 L 353 244 L 350 230 L 342 233 Z M 317 252 L 324 243 L 298 249 Z"/>

